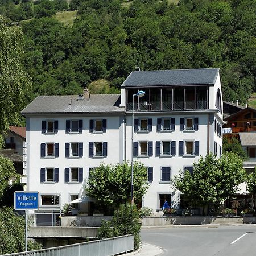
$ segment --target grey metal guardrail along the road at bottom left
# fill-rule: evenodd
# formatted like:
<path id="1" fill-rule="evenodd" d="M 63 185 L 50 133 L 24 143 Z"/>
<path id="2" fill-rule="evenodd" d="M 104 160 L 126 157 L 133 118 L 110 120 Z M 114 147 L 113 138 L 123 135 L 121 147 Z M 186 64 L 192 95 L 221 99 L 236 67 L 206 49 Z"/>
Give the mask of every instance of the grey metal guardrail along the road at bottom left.
<path id="1" fill-rule="evenodd" d="M 5 254 L 2 256 L 108 256 L 134 250 L 134 235 L 112 237 L 91 242 L 76 243 L 43 250 L 27 251 L 23 253 Z"/>

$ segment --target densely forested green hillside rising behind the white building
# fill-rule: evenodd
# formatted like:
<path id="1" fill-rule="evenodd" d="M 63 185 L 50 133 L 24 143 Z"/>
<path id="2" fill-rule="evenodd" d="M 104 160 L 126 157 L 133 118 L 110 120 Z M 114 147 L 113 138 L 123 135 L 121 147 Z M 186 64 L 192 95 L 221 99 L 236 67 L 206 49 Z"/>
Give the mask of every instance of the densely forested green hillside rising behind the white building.
<path id="1" fill-rule="evenodd" d="M 34 16 L 20 22 L 24 67 L 34 82 L 31 98 L 75 94 L 98 79 L 108 80 L 115 92 L 135 67 L 219 67 L 224 100 L 245 103 L 255 91 L 255 0 L 13 3 L 16 9 L 25 4 L 31 15 L 24 19 Z M 55 18 L 57 10 L 67 9 L 78 10 L 68 25 Z"/>

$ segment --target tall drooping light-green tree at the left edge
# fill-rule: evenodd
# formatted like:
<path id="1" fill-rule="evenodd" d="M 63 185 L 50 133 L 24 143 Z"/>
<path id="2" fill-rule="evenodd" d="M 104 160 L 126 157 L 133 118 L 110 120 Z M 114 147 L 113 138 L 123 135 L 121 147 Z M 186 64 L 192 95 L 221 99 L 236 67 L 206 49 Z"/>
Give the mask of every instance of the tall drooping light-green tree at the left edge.
<path id="1" fill-rule="evenodd" d="M 23 70 L 23 34 L 18 26 L 7 26 L 0 16 L 0 137 L 9 125 L 19 125 L 31 81 Z M 3 93 L 4 92 L 4 93 Z"/>

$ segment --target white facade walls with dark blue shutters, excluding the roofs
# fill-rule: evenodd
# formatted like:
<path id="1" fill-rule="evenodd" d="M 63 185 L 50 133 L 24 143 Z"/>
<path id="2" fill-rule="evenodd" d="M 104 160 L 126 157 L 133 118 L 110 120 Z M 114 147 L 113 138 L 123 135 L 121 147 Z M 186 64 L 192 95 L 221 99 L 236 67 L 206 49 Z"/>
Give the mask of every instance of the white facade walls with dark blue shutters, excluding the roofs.
<path id="1" fill-rule="evenodd" d="M 185 86 L 187 85 L 182 86 L 185 99 L 185 88 L 187 88 Z M 198 86 L 191 84 L 189 88 L 194 90 L 193 88 Z M 170 179 L 180 170 L 183 171 L 185 167 L 192 167 L 200 156 L 205 156 L 208 152 L 213 152 L 217 156 L 221 155 L 223 121 L 218 71 L 214 84 L 200 86 L 205 86 L 207 88 L 205 92 L 208 93 L 208 96 L 205 96 L 208 105 L 203 109 L 195 107 L 195 109 L 176 110 L 172 107 L 170 110 L 149 108 L 135 109 L 134 111 L 134 121 L 136 122 L 134 150 L 135 153 L 138 151 L 138 154 L 134 154 L 134 160 L 139 160 L 145 166 L 150 167 L 148 169 L 150 170 L 150 187 L 143 198 L 144 207 L 158 210 L 162 207 L 164 199 L 169 200 L 174 207 L 179 207 L 179 192 L 174 192 L 174 189 L 171 188 Z M 133 91 L 134 88 L 133 86 Z M 159 88 L 162 87 L 159 86 Z M 57 113 L 53 110 L 52 112 L 38 113 L 35 110 L 32 113 L 30 108 L 36 105 L 37 99 L 35 103 L 32 102 L 23 110 L 22 113 L 27 118 L 28 191 L 39 191 L 40 196 L 43 196 L 40 200 L 40 212 L 58 210 L 60 205 L 70 203 L 74 198 L 81 196 L 84 181 L 88 179 L 89 168 L 97 167 L 100 163 L 115 164 L 122 163 L 124 160 L 131 161 L 132 115 L 127 100 L 129 89 L 131 89 L 129 85 L 122 86 L 121 102 L 119 102 L 121 110 L 119 112 L 102 110 L 79 113 L 74 110 L 69 113 Z M 140 86 L 136 86 L 136 89 L 139 90 Z M 148 90 L 152 98 L 154 91 L 153 89 Z M 217 108 L 218 90 L 220 104 Z M 197 89 L 195 89 L 196 92 Z M 163 97 L 162 89 L 160 95 Z M 172 89 L 172 95 L 174 95 L 174 89 Z M 152 104 L 154 102 L 151 98 L 149 102 Z M 76 102 L 76 104 L 83 104 L 82 101 Z M 183 102 L 184 106 L 185 101 Z M 84 103 L 90 104 L 90 100 Z M 53 130 L 54 121 L 57 121 L 57 129 Z M 70 129 L 72 129 L 72 121 L 77 121 L 74 123 L 74 127 L 75 125 L 80 126 L 80 123 L 82 123 L 82 127 L 78 128 L 79 131 L 67 131 L 67 121 L 71 121 L 69 122 Z M 92 130 L 92 122 L 95 127 L 95 121 L 100 121 L 101 125 L 105 122 L 105 129 L 102 128 L 102 131 Z M 50 132 L 47 132 L 48 122 L 52 127 L 52 130 L 49 129 Z M 69 156 L 67 156 L 67 143 L 69 143 Z M 96 143 L 102 143 L 102 156 L 95 156 Z M 92 146 L 94 156 L 90 155 Z M 106 152 L 103 152 L 103 147 L 106 148 Z M 47 148 L 50 152 L 49 156 L 47 156 Z M 56 151 L 58 151 L 57 155 Z M 75 156 L 71 156 L 72 152 Z M 68 178 L 67 168 L 69 168 Z M 77 175 L 75 175 L 76 169 Z M 47 196 L 52 196 L 52 204 L 47 201 L 49 200 Z M 60 196 L 59 200 L 56 201 L 54 196 Z M 84 210 L 86 211 L 88 208 L 85 207 Z"/>

